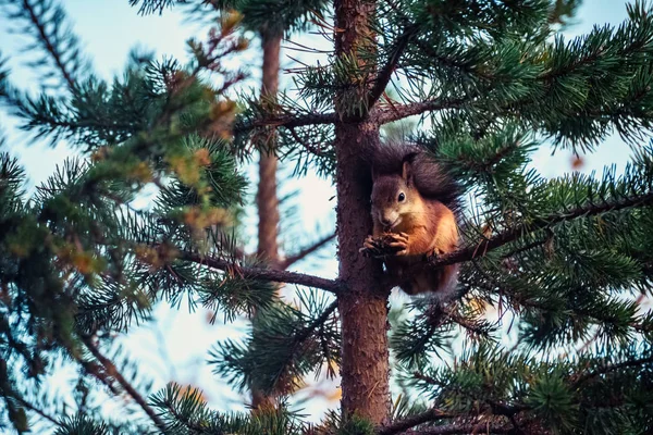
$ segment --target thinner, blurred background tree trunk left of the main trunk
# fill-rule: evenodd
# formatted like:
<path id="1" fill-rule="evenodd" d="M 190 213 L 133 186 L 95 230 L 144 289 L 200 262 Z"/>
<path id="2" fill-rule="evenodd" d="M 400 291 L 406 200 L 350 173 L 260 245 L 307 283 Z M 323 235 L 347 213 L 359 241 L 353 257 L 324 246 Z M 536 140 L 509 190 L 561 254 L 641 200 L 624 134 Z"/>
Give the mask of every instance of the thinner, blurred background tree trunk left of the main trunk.
<path id="1" fill-rule="evenodd" d="M 263 48 L 263 77 L 261 97 L 275 97 L 279 90 L 279 64 L 281 35 L 261 35 Z M 274 139 L 270 140 L 274 144 Z M 272 269 L 279 266 L 279 199 L 276 197 L 276 164 L 274 147 L 270 151 L 260 151 L 259 184 L 256 203 L 259 215 L 258 249 L 259 257 L 264 258 Z M 272 405 L 272 398 L 262 391 L 251 388 L 251 405 L 255 409 Z"/>

